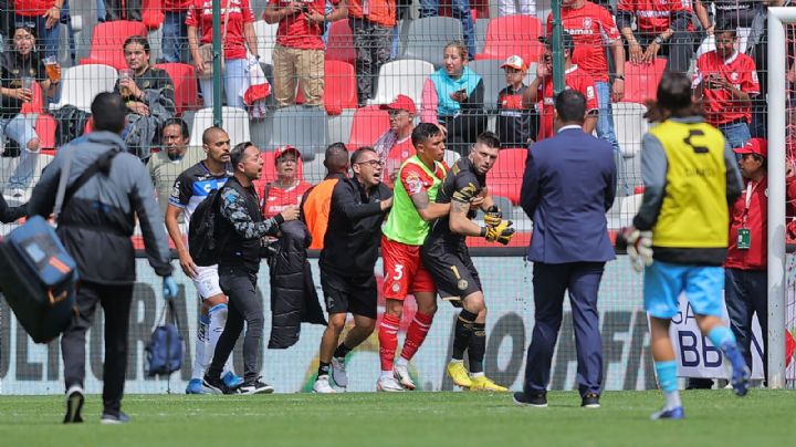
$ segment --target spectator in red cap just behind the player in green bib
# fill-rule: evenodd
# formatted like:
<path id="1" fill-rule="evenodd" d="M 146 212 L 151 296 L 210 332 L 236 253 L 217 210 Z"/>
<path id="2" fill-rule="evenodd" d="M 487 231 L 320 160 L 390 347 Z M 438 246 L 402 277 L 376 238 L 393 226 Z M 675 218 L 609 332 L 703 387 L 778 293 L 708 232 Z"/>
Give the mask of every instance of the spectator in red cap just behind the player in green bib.
<path id="1" fill-rule="evenodd" d="M 415 131 L 417 107 L 411 97 L 398 95 L 381 108 L 386 108 L 389 113 L 390 128 L 379 136 L 374 148 L 385 167 L 381 180 L 391 188 L 401 164 L 415 155 L 411 133 Z"/>

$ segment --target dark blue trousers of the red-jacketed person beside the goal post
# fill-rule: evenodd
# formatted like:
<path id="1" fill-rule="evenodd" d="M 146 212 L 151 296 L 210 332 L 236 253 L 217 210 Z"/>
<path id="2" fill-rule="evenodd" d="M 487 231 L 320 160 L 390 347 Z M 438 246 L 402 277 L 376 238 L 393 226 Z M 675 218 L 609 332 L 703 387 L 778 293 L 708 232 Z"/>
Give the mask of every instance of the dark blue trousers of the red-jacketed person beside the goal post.
<path id="1" fill-rule="evenodd" d="M 752 370 L 752 316 L 755 313 L 763 334 L 763 352 L 768 352 L 768 272 L 726 269 L 724 278 L 724 302 L 730 316 L 730 329 L 737 340 L 746 365 Z M 764 373 L 768 367 L 766 363 L 763 358 Z"/>

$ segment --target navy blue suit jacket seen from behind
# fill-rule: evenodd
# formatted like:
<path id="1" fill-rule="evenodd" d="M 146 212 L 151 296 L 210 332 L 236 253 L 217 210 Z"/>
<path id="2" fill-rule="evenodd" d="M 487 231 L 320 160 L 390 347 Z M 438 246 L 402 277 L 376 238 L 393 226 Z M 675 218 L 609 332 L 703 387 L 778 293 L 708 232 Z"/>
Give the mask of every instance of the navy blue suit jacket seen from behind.
<path id="1" fill-rule="evenodd" d="M 528 149 L 521 204 L 534 229 L 533 262 L 605 262 L 615 258 L 605 214 L 616 195 L 614 149 L 577 128 Z"/>

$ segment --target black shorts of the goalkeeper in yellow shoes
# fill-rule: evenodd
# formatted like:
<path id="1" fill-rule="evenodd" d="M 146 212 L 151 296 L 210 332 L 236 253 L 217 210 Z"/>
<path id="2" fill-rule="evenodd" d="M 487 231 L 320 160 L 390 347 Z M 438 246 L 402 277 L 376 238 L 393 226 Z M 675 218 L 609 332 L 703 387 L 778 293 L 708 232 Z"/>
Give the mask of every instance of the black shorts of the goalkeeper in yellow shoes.
<path id="1" fill-rule="evenodd" d="M 444 242 L 426 243 L 420 249 L 423 264 L 437 284 L 441 298 L 464 298 L 481 292 L 481 279 L 467 246 Z"/>

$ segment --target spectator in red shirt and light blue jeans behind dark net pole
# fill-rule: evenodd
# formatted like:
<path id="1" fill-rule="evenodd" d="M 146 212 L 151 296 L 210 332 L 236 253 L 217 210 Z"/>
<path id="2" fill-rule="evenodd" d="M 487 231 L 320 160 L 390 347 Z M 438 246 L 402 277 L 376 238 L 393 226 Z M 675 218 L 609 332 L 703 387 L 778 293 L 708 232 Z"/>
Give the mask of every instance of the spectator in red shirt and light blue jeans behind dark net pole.
<path id="1" fill-rule="evenodd" d="M 227 9 L 229 9 L 229 13 L 227 13 Z M 249 6 L 249 0 L 221 0 L 220 14 L 221 33 L 223 34 L 226 31 L 221 44 L 223 45 L 223 83 L 227 105 L 245 108 L 240 93 L 249 76 L 245 71 L 249 64 L 247 48 L 252 56 L 260 59 L 254 33 L 254 13 Z M 229 19 L 224 21 L 224 18 Z M 188 48 L 190 48 L 199 75 L 202 100 L 206 107 L 212 107 L 212 77 L 203 77 L 206 67 L 211 66 L 212 61 L 203 60 L 199 52 L 199 45 L 212 43 L 212 0 L 191 0 L 186 25 L 188 25 Z"/>

